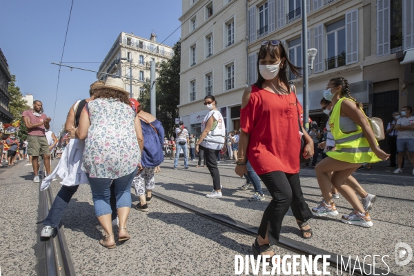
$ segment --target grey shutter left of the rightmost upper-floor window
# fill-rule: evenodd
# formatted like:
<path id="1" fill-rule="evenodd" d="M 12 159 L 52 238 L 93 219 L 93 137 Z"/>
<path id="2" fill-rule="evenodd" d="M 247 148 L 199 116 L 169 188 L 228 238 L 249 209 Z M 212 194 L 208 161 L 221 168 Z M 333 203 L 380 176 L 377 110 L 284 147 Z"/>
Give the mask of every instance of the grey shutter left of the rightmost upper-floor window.
<path id="1" fill-rule="evenodd" d="M 377 0 L 377 57 L 390 53 L 390 1 Z"/>

